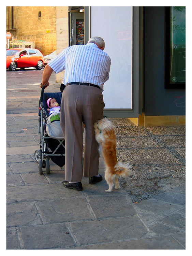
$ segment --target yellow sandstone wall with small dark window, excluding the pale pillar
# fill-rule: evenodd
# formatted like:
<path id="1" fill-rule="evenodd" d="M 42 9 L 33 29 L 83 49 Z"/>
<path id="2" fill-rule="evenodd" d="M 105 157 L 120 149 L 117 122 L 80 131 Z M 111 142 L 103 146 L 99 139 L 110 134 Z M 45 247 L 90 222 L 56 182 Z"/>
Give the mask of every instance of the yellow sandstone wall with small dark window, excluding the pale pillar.
<path id="1" fill-rule="evenodd" d="M 45 56 L 56 46 L 56 6 L 15 6 L 18 40 L 34 41 Z M 41 12 L 41 17 L 39 17 Z"/>

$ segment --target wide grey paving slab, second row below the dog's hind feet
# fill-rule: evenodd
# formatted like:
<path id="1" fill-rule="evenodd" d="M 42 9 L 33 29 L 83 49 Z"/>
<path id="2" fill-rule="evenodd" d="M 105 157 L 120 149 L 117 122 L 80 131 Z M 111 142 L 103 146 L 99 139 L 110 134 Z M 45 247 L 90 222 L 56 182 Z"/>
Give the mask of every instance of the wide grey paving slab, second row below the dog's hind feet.
<path id="1" fill-rule="evenodd" d="M 141 239 L 147 233 L 136 216 L 73 222 L 69 228 L 79 245 Z"/>

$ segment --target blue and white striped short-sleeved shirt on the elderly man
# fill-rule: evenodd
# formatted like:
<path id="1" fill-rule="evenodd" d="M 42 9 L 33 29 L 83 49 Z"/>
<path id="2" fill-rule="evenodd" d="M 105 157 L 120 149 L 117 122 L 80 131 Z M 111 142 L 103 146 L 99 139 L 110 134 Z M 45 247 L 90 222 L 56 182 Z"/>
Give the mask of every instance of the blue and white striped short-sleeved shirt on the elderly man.
<path id="1" fill-rule="evenodd" d="M 73 45 L 65 48 L 48 65 L 59 73 L 65 70 L 64 84 L 72 82 L 99 85 L 109 79 L 111 59 L 94 43 Z"/>

